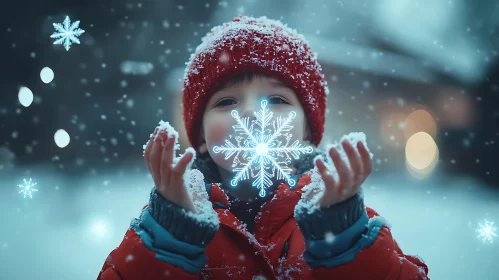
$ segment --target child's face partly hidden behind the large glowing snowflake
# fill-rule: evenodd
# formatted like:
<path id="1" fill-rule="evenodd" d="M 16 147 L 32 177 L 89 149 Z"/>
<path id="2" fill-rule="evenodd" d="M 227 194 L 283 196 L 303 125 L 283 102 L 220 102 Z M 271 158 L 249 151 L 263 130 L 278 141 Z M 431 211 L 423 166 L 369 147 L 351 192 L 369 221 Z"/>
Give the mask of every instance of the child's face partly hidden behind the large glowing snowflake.
<path id="1" fill-rule="evenodd" d="M 223 153 L 213 152 L 213 147 L 224 145 L 225 139 L 236 144 L 233 138 L 229 138 L 230 135 L 235 135 L 232 126 L 236 124 L 231 111 L 236 110 L 240 118 L 250 117 L 251 121 L 255 118 L 254 112 L 260 110 L 262 99 L 267 99 L 268 109 L 273 112 L 274 119 L 277 116 L 287 117 L 291 111 L 296 113 L 291 122 L 292 139 L 289 144 L 295 140 L 307 140 L 305 114 L 294 91 L 277 79 L 257 77 L 248 82 L 225 87 L 211 96 L 203 115 L 204 147 L 200 150 L 206 148 L 218 166 L 231 171 L 232 158 L 225 160 Z"/>

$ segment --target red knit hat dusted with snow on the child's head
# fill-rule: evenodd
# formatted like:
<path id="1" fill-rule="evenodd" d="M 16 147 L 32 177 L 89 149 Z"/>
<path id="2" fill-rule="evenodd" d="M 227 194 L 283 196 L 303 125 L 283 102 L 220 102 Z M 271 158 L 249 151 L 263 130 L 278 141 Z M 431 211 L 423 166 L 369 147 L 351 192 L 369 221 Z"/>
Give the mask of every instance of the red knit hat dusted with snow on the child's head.
<path id="1" fill-rule="evenodd" d="M 329 93 L 321 70 L 305 38 L 279 21 L 238 16 L 214 27 L 187 62 L 183 109 L 189 142 L 197 150 L 203 112 L 214 90 L 236 74 L 257 72 L 283 81 L 296 92 L 311 142 L 319 145 Z"/>

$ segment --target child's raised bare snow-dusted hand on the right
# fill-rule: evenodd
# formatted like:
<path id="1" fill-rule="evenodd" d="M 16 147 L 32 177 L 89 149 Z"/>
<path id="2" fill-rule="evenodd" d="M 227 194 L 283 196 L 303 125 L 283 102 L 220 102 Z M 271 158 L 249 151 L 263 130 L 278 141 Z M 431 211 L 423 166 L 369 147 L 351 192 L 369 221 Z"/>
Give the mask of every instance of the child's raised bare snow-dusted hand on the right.
<path id="1" fill-rule="evenodd" d="M 329 156 L 338 172 L 338 180 L 333 177 L 322 159 L 315 160 L 315 165 L 325 185 L 324 193 L 318 201 L 320 207 L 323 208 L 354 196 L 372 171 L 369 151 L 361 141 L 357 142 L 357 151 L 348 140 L 343 140 L 341 145 L 348 157 L 350 167 L 347 166 L 336 147 L 329 149 Z"/>

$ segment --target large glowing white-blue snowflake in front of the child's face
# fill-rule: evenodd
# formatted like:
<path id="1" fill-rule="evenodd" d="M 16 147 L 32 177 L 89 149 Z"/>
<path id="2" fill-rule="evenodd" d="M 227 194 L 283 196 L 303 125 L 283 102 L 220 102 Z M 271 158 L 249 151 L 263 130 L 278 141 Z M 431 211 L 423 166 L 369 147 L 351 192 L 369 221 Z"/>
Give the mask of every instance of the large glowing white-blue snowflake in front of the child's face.
<path id="1" fill-rule="evenodd" d="M 225 139 L 224 146 L 215 146 L 215 153 L 225 154 L 225 159 L 235 154 L 232 162 L 234 178 L 231 185 L 236 186 L 239 181 L 255 178 L 252 183 L 257 187 L 261 197 L 265 196 L 265 190 L 272 185 L 271 178 L 277 176 L 277 180 L 285 179 L 290 186 L 296 181 L 291 178 L 292 171 L 288 165 L 293 157 L 298 159 L 300 154 L 311 153 L 310 146 L 303 146 L 298 140 L 289 145 L 291 141 L 291 120 L 296 117 L 295 112 L 290 112 L 287 118 L 278 117 L 271 121 L 273 113 L 267 108 L 267 100 L 262 100 L 261 109 L 255 112 L 255 119 L 249 121 L 249 117 L 240 118 L 236 110 L 231 112 L 237 121 L 232 128 L 236 132 L 234 137 L 236 145 Z M 283 141 L 278 139 L 284 138 Z"/>

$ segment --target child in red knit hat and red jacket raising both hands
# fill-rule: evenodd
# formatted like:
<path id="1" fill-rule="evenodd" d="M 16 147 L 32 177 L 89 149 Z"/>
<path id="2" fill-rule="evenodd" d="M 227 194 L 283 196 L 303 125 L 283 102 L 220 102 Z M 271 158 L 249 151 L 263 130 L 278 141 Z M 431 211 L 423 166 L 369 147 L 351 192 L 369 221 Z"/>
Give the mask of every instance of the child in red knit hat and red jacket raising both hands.
<path id="1" fill-rule="evenodd" d="M 167 123 L 151 134 L 149 205 L 98 279 L 428 279 L 427 266 L 404 255 L 364 206 L 365 139 L 329 149 L 337 173 L 316 149 L 292 163 L 294 186 L 275 180 L 264 197 L 251 180 L 230 186 L 231 159 L 213 147 L 233 133 L 232 110 L 251 117 L 265 98 L 276 115 L 296 113 L 293 137 L 321 141 L 327 85 L 303 37 L 265 17 L 236 17 L 203 38 L 183 94 L 194 148 L 177 158 Z"/>

